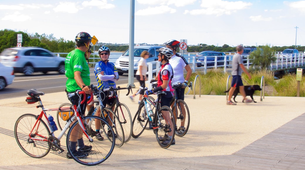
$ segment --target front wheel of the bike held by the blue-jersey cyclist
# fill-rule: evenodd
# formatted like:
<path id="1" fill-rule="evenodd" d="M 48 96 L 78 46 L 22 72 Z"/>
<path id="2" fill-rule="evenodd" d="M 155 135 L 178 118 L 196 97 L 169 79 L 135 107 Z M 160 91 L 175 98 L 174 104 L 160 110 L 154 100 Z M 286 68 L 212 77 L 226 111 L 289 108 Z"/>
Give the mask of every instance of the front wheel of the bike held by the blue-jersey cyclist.
<path id="1" fill-rule="evenodd" d="M 116 136 L 115 146 L 121 147 L 124 144 L 125 137 L 124 137 L 124 129 L 120 123 L 119 118 L 109 108 L 103 108 L 102 113 L 106 117 L 106 121 L 110 124 L 110 126 L 113 129 L 113 132 L 115 133 L 114 134 Z M 103 124 L 101 124 L 101 125 L 103 125 Z M 106 137 L 108 137 L 107 133 L 109 133 L 110 129 L 101 128 L 101 130 L 103 131 L 104 134 L 106 134 Z"/>

